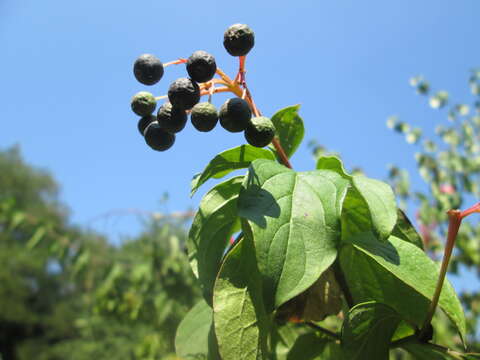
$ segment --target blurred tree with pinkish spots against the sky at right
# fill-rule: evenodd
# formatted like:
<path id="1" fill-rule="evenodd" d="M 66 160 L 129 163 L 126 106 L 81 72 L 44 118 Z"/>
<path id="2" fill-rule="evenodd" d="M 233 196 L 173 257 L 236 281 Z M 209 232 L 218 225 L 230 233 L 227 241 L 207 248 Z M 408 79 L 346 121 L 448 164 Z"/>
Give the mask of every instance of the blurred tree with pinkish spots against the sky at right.
<path id="1" fill-rule="evenodd" d="M 434 136 L 422 135 L 398 117 L 390 117 L 387 125 L 403 134 L 414 145 L 415 160 L 426 191 L 412 189 L 410 176 L 404 169 L 392 166 L 389 179 L 404 208 L 415 209 L 415 217 L 426 251 L 440 259 L 447 237 L 447 211 L 472 204 L 480 199 L 480 71 L 472 70 L 469 86 L 473 95 L 471 104 L 451 103 L 446 91 L 432 91 L 422 76 L 414 77 L 410 84 L 417 93 L 428 100 L 433 109 L 443 110 L 446 121 L 438 121 Z M 480 276 L 480 223 L 474 219 L 462 224 L 455 251 L 450 263 L 450 273 L 467 270 Z M 480 349 L 478 321 L 480 292 L 461 294 L 468 321 L 468 343 L 472 350 Z M 459 343 L 447 323 L 436 324 L 438 336 L 451 345 Z"/>

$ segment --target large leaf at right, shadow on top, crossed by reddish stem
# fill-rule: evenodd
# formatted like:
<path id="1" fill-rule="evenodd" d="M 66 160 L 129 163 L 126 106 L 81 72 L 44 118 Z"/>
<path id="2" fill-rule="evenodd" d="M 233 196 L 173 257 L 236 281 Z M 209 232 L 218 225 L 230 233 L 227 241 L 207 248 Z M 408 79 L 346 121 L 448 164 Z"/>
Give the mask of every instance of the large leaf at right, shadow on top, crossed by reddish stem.
<path id="1" fill-rule="evenodd" d="M 340 263 L 354 300 L 387 304 L 405 320 L 422 325 L 438 279 L 437 264 L 394 236 L 379 242 L 372 234 L 362 234 L 349 242 L 340 250 Z M 439 305 L 465 339 L 465 315 L 448 281 Z"/>

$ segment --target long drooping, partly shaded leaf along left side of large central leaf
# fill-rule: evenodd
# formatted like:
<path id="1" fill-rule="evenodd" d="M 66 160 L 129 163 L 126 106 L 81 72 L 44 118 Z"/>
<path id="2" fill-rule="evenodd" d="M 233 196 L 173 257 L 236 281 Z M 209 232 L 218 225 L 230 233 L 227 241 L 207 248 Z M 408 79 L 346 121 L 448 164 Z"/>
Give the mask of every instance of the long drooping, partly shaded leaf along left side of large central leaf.
<path id="1" fill-rule="evenodd" d="M 237 198 L 243 176 L 212 188 L 200 202 L 187 240 L 188 258 L 209 304 L 225 248 L 230 236 L 240 229 Z"/>

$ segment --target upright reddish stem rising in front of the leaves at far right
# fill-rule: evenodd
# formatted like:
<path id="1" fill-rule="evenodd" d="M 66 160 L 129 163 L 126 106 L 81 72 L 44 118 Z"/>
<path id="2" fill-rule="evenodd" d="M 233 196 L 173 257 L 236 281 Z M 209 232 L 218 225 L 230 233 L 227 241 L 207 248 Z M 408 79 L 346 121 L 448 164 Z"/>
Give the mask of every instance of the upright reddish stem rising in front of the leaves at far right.
<path id="1" fill-rule="evenodd" d="M 440 268 L 440 274 L 438 276 L 437 287 L 435 288 L 435 293 L 430 303 L 428 309 L 427 317 L 423 322 L 422 329 L 418 335 L 418 338 L 422 339 L 428 330 L 428 326 L 432 321 L 433 314 L 438 305 L 438 300 L 440 299 L 440 294 L 442 292 L 443 283 L 445 281 L 445 275 L 447 274 L 448 263 L 450 262 L 450 257 L 452 255 L 453 246 L 455 245 L 455 239 L 457 238 L 458 229 L 462 223 L 462 213 L 460 210 L 449 210 L 448 211 L 448 235 L 447 243 L 445 244 L 445 251 L 443 253 L 442 266 Z"/>

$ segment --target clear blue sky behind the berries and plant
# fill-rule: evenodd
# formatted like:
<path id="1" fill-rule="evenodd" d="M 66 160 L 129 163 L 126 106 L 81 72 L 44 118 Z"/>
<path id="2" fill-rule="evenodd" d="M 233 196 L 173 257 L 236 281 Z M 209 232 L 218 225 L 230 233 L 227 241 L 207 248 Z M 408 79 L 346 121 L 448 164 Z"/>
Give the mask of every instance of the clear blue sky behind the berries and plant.
<path id="1" fill-rule="evenodd" d="M 169 151 L 150 150 L 130 98 L 166 93 L 185 70 L 169 67 L 146 87 L 132 64 L 142 53 L 167 62 L 203 49 L 233 74 L 223 32 L 242 22 L 256 34 L 247 76 L 261 110 L 302 104 L 306 141 L 292 159 L 296 169 L 313 167 L 306 143 L 316 139 L 372 177 L 384 178 L 388 163 L 414 170 L 414 148 L 385 120 L 398 114 L 430 129 L 444 121 L 409 87 L 417 74 L 454 100 L 471 100 L 479 13 L 475 0 L 2 0 L 0 147 L 20 144 L 28 162 L 59 181 L 72 221 L 114 238 L 138 231 L 136 219 L 90 220 L 116 209 L 165 211 L 164 192 L 168 210 L 196 207 L 208 186 L 190 199 L 192 175 L 243 135 L 188 125 Z"/>

